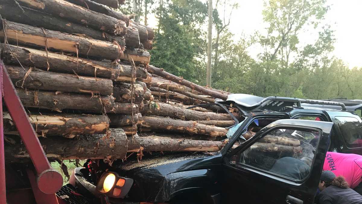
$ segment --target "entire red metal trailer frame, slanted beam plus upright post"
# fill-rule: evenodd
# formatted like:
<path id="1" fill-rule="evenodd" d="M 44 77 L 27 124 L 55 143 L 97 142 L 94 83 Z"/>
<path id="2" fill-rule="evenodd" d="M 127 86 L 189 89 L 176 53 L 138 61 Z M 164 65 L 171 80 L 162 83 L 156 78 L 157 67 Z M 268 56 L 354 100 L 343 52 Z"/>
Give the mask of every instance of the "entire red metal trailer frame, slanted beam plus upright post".
<path id="1" fill-rule="evenodd" d="M 2 96 L 0 97 L 0 204 L 7 204 L 3 98 L 35 167 L 35 172 L 31 169 L 27 169 L 27 172 L 36 202 L 38 204 L 58 204 L 55 193 L 62 187 L 63 177 L 50 166 L 2 60 L 0 60 L 0 94 Z"/>

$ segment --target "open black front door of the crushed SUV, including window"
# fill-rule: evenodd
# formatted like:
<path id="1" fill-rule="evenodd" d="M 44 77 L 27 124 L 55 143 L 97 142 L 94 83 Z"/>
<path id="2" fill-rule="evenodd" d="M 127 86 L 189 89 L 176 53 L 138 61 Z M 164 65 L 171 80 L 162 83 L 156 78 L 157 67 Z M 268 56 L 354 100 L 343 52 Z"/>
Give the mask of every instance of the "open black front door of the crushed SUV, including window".
<path id="1" fill-rule="evenodd" d="M 239 146 L 229 145 L 223 157 L 222 203 L 312 204 L 332 126 L 282 119 Z M 304 144 L 315 138 L 315 149 L 308 149 Z"/>

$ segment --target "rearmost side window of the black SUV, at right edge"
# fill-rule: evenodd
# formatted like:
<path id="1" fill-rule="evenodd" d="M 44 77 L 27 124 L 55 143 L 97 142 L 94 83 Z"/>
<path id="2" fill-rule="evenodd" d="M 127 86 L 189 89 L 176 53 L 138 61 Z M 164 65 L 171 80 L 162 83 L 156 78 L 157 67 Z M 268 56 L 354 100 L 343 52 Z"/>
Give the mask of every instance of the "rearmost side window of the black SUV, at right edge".
<path id="1" fill-rule="evenodd" d="M 348 148 L 362 147 L 362 125 L 357 118 L 334 117 Z"/>

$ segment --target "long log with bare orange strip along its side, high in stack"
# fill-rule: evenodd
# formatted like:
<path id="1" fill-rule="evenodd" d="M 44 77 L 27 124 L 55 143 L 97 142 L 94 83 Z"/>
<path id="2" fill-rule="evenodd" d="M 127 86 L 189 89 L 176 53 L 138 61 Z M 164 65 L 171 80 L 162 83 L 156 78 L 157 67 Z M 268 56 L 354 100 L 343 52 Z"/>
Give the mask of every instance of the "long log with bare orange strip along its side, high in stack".
<path id="1" fill-rule="evenodd" d="M 65 52 L 78 53 L 115 60 L 122 55 L 123 48 L 114 43 L 94 40 L 59 31 L 42 29 L 34 26 L 3 20 L 9 43 L 23 44 L 30 47 L 50 48 Z M 5 37 L 4 31 L 0 38 Z"/>

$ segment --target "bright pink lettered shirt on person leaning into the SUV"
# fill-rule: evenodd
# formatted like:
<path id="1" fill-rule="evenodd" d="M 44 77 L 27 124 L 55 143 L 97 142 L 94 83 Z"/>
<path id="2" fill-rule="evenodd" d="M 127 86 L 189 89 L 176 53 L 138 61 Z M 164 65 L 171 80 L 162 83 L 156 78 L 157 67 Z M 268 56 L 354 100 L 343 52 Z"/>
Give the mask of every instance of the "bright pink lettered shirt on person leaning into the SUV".
<path id="1" fill-rule="evenodd" d="M 327 152 L 323 170 L 332 171 L 336 176 L 343 176 L 350 188 L 355 188 L 362 181 L 362 156 Z"/>

